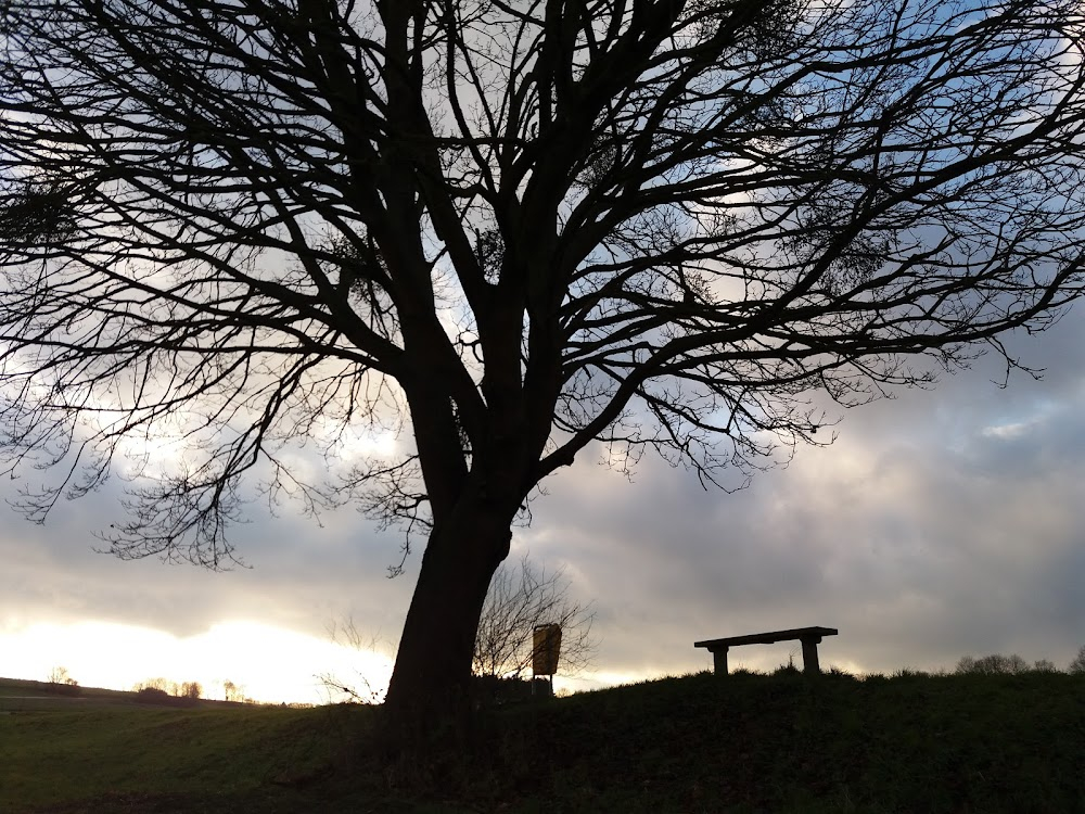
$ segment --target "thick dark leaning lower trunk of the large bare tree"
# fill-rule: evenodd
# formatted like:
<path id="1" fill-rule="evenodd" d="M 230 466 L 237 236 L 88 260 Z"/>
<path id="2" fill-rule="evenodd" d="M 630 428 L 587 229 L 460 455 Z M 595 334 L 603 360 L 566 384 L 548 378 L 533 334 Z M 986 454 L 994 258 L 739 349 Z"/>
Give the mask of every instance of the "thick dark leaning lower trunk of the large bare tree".
<path id="1" fill-rule="evenodd" d="M 403 736 L 417 740 L 443 720 L 469 714 L 478 619 L 509 554 L 512 519 L 467 499 L 430 535 L 385 700 Z"/>

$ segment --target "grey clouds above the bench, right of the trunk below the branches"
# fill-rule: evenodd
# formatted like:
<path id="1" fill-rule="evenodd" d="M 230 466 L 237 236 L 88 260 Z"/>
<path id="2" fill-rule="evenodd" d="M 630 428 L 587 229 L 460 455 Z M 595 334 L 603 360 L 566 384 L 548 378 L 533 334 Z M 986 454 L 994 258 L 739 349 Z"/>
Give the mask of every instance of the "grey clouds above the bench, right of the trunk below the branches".
<path id="1" fill-rule="evenodd" d="M 996 650 L 1064 663 L 1085 629 L 1085 390 L 1059 352 L 1080 357 L 1080 332 L 1024 347 L 1048 360 L 1041 382 L 1001 390 L 988 360 L 848 410 L 835 444 L 735 495 L 659 461 L 634 483 L 578 462 L 520 542 L 596 598 L 618 671 L 703 667 L 695 638 L 810 624 L 841 631 L 825 663 L 865 670 Z M 781 647 L 736 656 L 770 667 Z"/>

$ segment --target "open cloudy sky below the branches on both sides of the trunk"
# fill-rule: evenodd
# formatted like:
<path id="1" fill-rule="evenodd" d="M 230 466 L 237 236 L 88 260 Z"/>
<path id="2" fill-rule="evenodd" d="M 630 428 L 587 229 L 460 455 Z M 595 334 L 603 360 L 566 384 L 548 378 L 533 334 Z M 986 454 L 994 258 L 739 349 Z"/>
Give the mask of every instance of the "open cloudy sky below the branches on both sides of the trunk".
<path id="1" fill-rule="evenodd" d="M 704 638 L 807 625 L 840 634 L 822 667 L 952 669 L 1018 653 L 1065 667 L 1085 645 L 1085 308 L 1012 336 L 1041 381 L 1000 389 L 994 359 L 927 391 L 844 412 L 827 447 L 733 494 L 646 457 L 631 482 L 599 450 L 546 482 L 512 558 L 562 567 L 593 602 L 592 670 L 577 690 L 710 669 Z M 16 484 L 0 484 L 15 497 Z M 395 531 L 343 509 L 322 524 L 254 510 L 234 535 L 246 567 L 213 573 L 94 551 L 116 484 L 60 505 L 43 526 L 0 505 L 0 675 L 130 689 L 151 677 L 224 682 L 260 701 L 328 700 L 333 675 L 386 685 L 413 590 Z M 353 620 L 367 647 L 336 646 Z M 372 645 L 372 648 L 368 647 Z M 797 643 L 732 649 L 773 670 Z"/>

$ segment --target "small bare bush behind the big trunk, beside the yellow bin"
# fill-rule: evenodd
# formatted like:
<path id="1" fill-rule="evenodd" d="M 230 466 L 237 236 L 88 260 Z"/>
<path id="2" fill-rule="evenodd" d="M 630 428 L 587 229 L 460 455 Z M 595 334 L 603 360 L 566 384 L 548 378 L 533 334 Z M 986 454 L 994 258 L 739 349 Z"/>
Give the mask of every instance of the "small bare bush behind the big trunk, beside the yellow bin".
<path id="1" fill-rule="evenodd" d="M 494 573 L 478 621 L 472 669 L 476 675 L 520 678 L 532 666 L 536 625 L 561 627 L 562 673 L 587 667 L 598 650 L 591 636 L 595 612 L 570 596 L 564 569 L 547 572 L 527 555 L 518 567 L 506 561 Z"/>

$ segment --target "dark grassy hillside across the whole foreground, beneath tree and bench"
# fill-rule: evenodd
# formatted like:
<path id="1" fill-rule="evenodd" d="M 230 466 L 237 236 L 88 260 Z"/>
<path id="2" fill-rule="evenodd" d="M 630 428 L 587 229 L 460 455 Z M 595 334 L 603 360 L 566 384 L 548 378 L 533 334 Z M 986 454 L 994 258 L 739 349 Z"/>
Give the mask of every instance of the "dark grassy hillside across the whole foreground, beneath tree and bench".
<path id="1" fill-rule="evenodd" d="M 371 708 L 0 715 L 0 812 L 1085 812 L 1085 679 L 709 674 L 380 756 Z"/>

